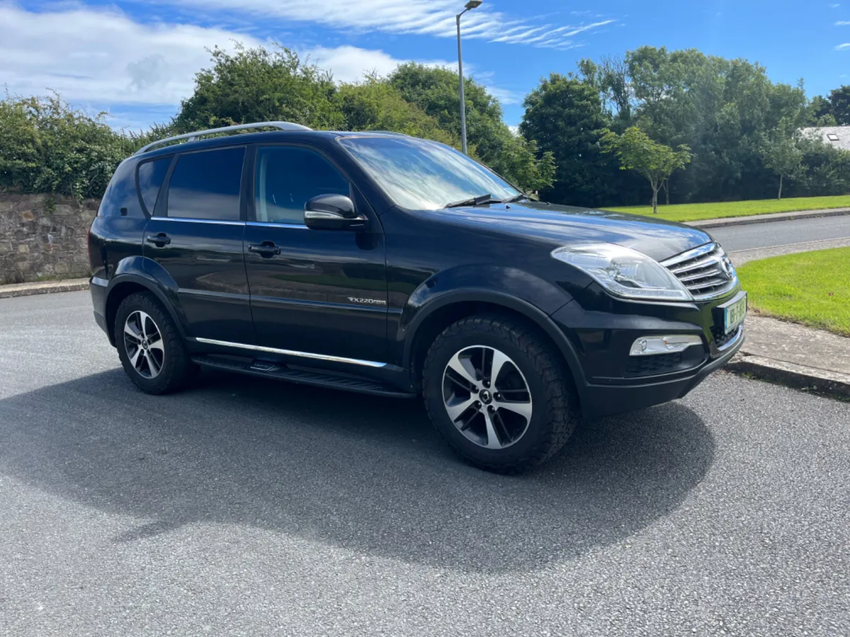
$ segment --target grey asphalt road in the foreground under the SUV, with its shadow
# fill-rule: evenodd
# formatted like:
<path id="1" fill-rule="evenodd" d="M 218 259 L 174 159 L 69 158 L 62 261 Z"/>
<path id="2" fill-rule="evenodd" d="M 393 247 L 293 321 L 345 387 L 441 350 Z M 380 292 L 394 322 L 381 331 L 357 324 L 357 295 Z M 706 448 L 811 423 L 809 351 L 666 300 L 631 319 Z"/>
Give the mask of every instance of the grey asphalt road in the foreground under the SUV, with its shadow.
<path id="1" fill-rule="evenodd" d="M 848 487 L 850 404 L 725 373 L 493 476 L 418 403 L 148 397 L 87 293 L 0 300 L 3 635 L 847 635 Z"/>

